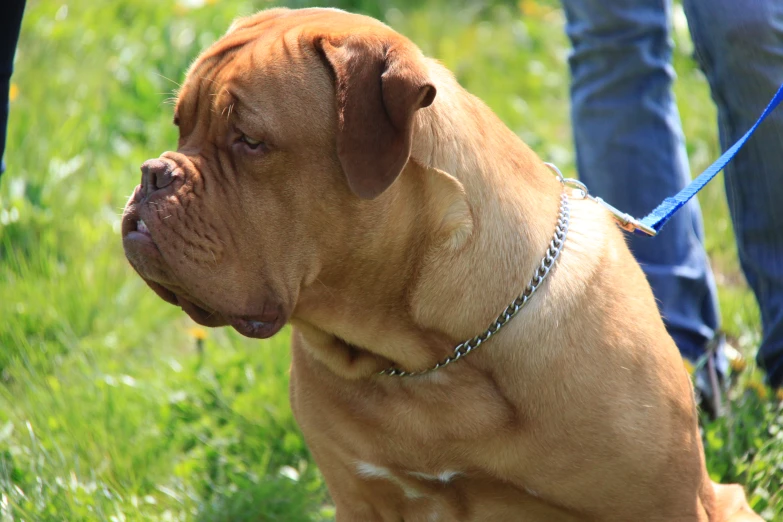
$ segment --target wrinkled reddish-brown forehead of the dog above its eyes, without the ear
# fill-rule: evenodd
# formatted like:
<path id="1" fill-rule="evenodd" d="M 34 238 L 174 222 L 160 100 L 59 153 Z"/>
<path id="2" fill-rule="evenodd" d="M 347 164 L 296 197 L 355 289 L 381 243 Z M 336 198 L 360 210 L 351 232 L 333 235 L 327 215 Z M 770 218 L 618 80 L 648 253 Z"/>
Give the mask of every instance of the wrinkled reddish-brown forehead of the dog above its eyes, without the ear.
<path id="1" fill-rule="evenodd" d="M 190 67 L 175 124 L 188 136 L 218 116 L 245 118 L 264 133 L 290 134 L 278 140 L 328 137 L 334 81 L 314 41 L 361 28 L 390 31 L 337 9 L 270 9 L 235 21 Z"/>

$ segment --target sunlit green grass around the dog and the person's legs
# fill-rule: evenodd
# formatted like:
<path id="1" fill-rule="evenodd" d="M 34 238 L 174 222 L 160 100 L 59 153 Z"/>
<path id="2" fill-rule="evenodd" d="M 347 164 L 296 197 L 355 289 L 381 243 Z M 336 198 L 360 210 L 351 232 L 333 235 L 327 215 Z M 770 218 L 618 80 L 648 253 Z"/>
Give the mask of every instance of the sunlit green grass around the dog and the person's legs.
<path id="1" fill-rule="evenodd" d="M 200 49 L 263 1 L 28 0 L 0 183 L 0 521 L 321 521 L 323 480 L 288 406 L 288 334 L 204 331 L 132 273 L 119 216 L 175 145 L 166 99 Z M 308 5 L 292 1 L 288 5 Z M 440 58 L 573 174 L 568 46 L 552 2 L 345 0 Z M 675 23 L 694 171 L 715 111 Z M 759 314 L 719 184 L 701 197 L 724 327 L 752 361 Z M 750 367 L 705 422 L 713 478 L 783 520 L 779 401 Z"/>

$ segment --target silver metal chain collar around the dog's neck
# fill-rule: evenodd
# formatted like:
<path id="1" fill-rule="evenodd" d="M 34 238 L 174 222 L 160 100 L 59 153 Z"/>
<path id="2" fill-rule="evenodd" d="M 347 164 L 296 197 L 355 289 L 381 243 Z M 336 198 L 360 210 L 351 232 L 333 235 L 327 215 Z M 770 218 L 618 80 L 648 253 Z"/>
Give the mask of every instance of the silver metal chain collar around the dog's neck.
<path id="1" fill-rule="evenodd" d="M 558 180 L 565 185 L 565 180 L 560 174 L 560 171 L 558 171 L 554 165 L 547 164 L 547 166 L 556 171 L 558 174 Z M 533 278 L 527 284 L 525 291 L 522 292 L 519 297 L 514 299 L 514 301 L 508 305 L 505 310 L 503 310 L 497 319 L 495 319 L 495 322 L 493 322 L 492 325 L 484 331 L 484 333 L 459 343 L 456 347 L 454 347 L 454 353 L 440 361 L 435 366 L 426 370 L 408 372 L 396 367 L 391 367 L 378 372 L 378 375 L 389 375 L 392 377 L 413 377 L 415 375 L 423 375 L 425 373 L 434 372 L 435 370 L 443 368 L 444 366 L 448 366 L 449 364 L 458 361 L 462 357 L 465 357 L 470 352 L 481 346 L 482 343 L 488 341 L 490 337 L 495 335 L 498 330 L 505 326 L 509 320 L 517 315 L 517 312 L 519 312 L 522 307 L 525 306 L 528 299 L 530 299 L 530 297 L 536 292 L 544 279 L 546 279 L 549 271 L 555 265 L 555 261 L 560 255 L 560 251 L 563 250 L 563 245 L 565 244 L 566 236 L 568 235 L 568 220 L 571 215 L 570 212 L 570 207 L 568 205 L 568 195 L 566 194 L 566 191 L 563 190 L 563 193 L 560 194 L 560 213 L 557 216 L 555 234 L 552 237 L 552 241 L 549 243 L 549 248 L 547 249 L 544 258 L 541 260 L 541 264 L 538 265 L 538 268 L 536 269 L 535 274 L 533 274 Z"/>

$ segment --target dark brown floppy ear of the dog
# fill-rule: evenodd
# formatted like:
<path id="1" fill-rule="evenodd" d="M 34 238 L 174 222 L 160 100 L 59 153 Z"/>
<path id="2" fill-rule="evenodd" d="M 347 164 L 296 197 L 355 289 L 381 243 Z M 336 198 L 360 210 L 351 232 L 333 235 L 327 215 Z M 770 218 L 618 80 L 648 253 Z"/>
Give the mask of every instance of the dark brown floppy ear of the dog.
<path id="1" fill-rule="evenodd" d="M 418 51 L 401 37 L 316 38 L 334 73 L 337 155 L 348 186 L 373 199 L 397 179 L 411 153 L 417 110 L 435 99 Z"/>

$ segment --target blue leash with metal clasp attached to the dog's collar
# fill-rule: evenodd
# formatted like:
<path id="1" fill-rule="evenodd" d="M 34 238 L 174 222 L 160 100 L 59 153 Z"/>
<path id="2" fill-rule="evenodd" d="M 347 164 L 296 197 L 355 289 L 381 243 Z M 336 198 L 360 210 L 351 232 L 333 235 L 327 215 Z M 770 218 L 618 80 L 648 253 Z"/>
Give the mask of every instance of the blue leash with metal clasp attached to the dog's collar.
<path id="1" fill-rule="evenodd" d="M 699 176 L 694 179 L 687 187 L 682 189 L 673 197 L 664 199 L 663 203 L 658 205 L 658 207 L 656 207 L 652 212 L 650 212 L 645 218 L 641 220 L 617 210 L 601 198 L 591 196 L 587 191 L 587 187 L 585 187 L 585 185 L 580 181 L 575 179 L 563 179 L 562 175 L 559 176 L 560 180 L 568 186 L 581 190 L 585 197 L 589 197 L 590 199 L 606 207 L 606 209 L 609 210 L 609 212 L 611 212 L 614 218 L 618 221 L 620 227 L 622 227 L 624 230 L 643 236 L 655 236 L 658 234 L 658 232 L 661 231 L 663 225 L 665 225 L 666 222 L 671 219 L 675 212 L 677 212 L 683 205 L 690 201 L 697 192 L 703 189 L 704 186 L 718 174 L 718 172 L 723 170 L 723 168 L 734 159 L 734 157 L 737 155 L 737 152 L 739 152 L 745 143 L 747 143 L 747 141 L 750 139 L 753 133 L 756 132 L 756 129 L 767 118 L 767 116 L 769 116 L 769 114 L 774 111 L 778 105 L 780 105 L 781 101 L 783 101 L 783 85 L 780 86 L 778 92 L 775 93 L 775 96 L 772 97 L 772 101 L 769 102 L 769 105 L 767 105 L 767 108 L 764 109 L 764 112 L 761 113 L 761 116 L 759 116 L 759 119 L 756 121 L 756 123 L 753 124 L 753 127 L 751 127 L 743 137 L 737 140 L 737 142 L 732 145 L 731 148 L 724 152 L 723 155 L 721 155 L 721 157 L 715 161 L 715 163 L 707 168 L 707 170 L 699 174 Z M 781 147 L 783 147 L 783 143 L 781 143 Z M 550 168 L 554 167 L 553 165 L 548 166 Z M 554 170 L 559 174 L 559 171 L 557 171 L 556 167 Z"/>

